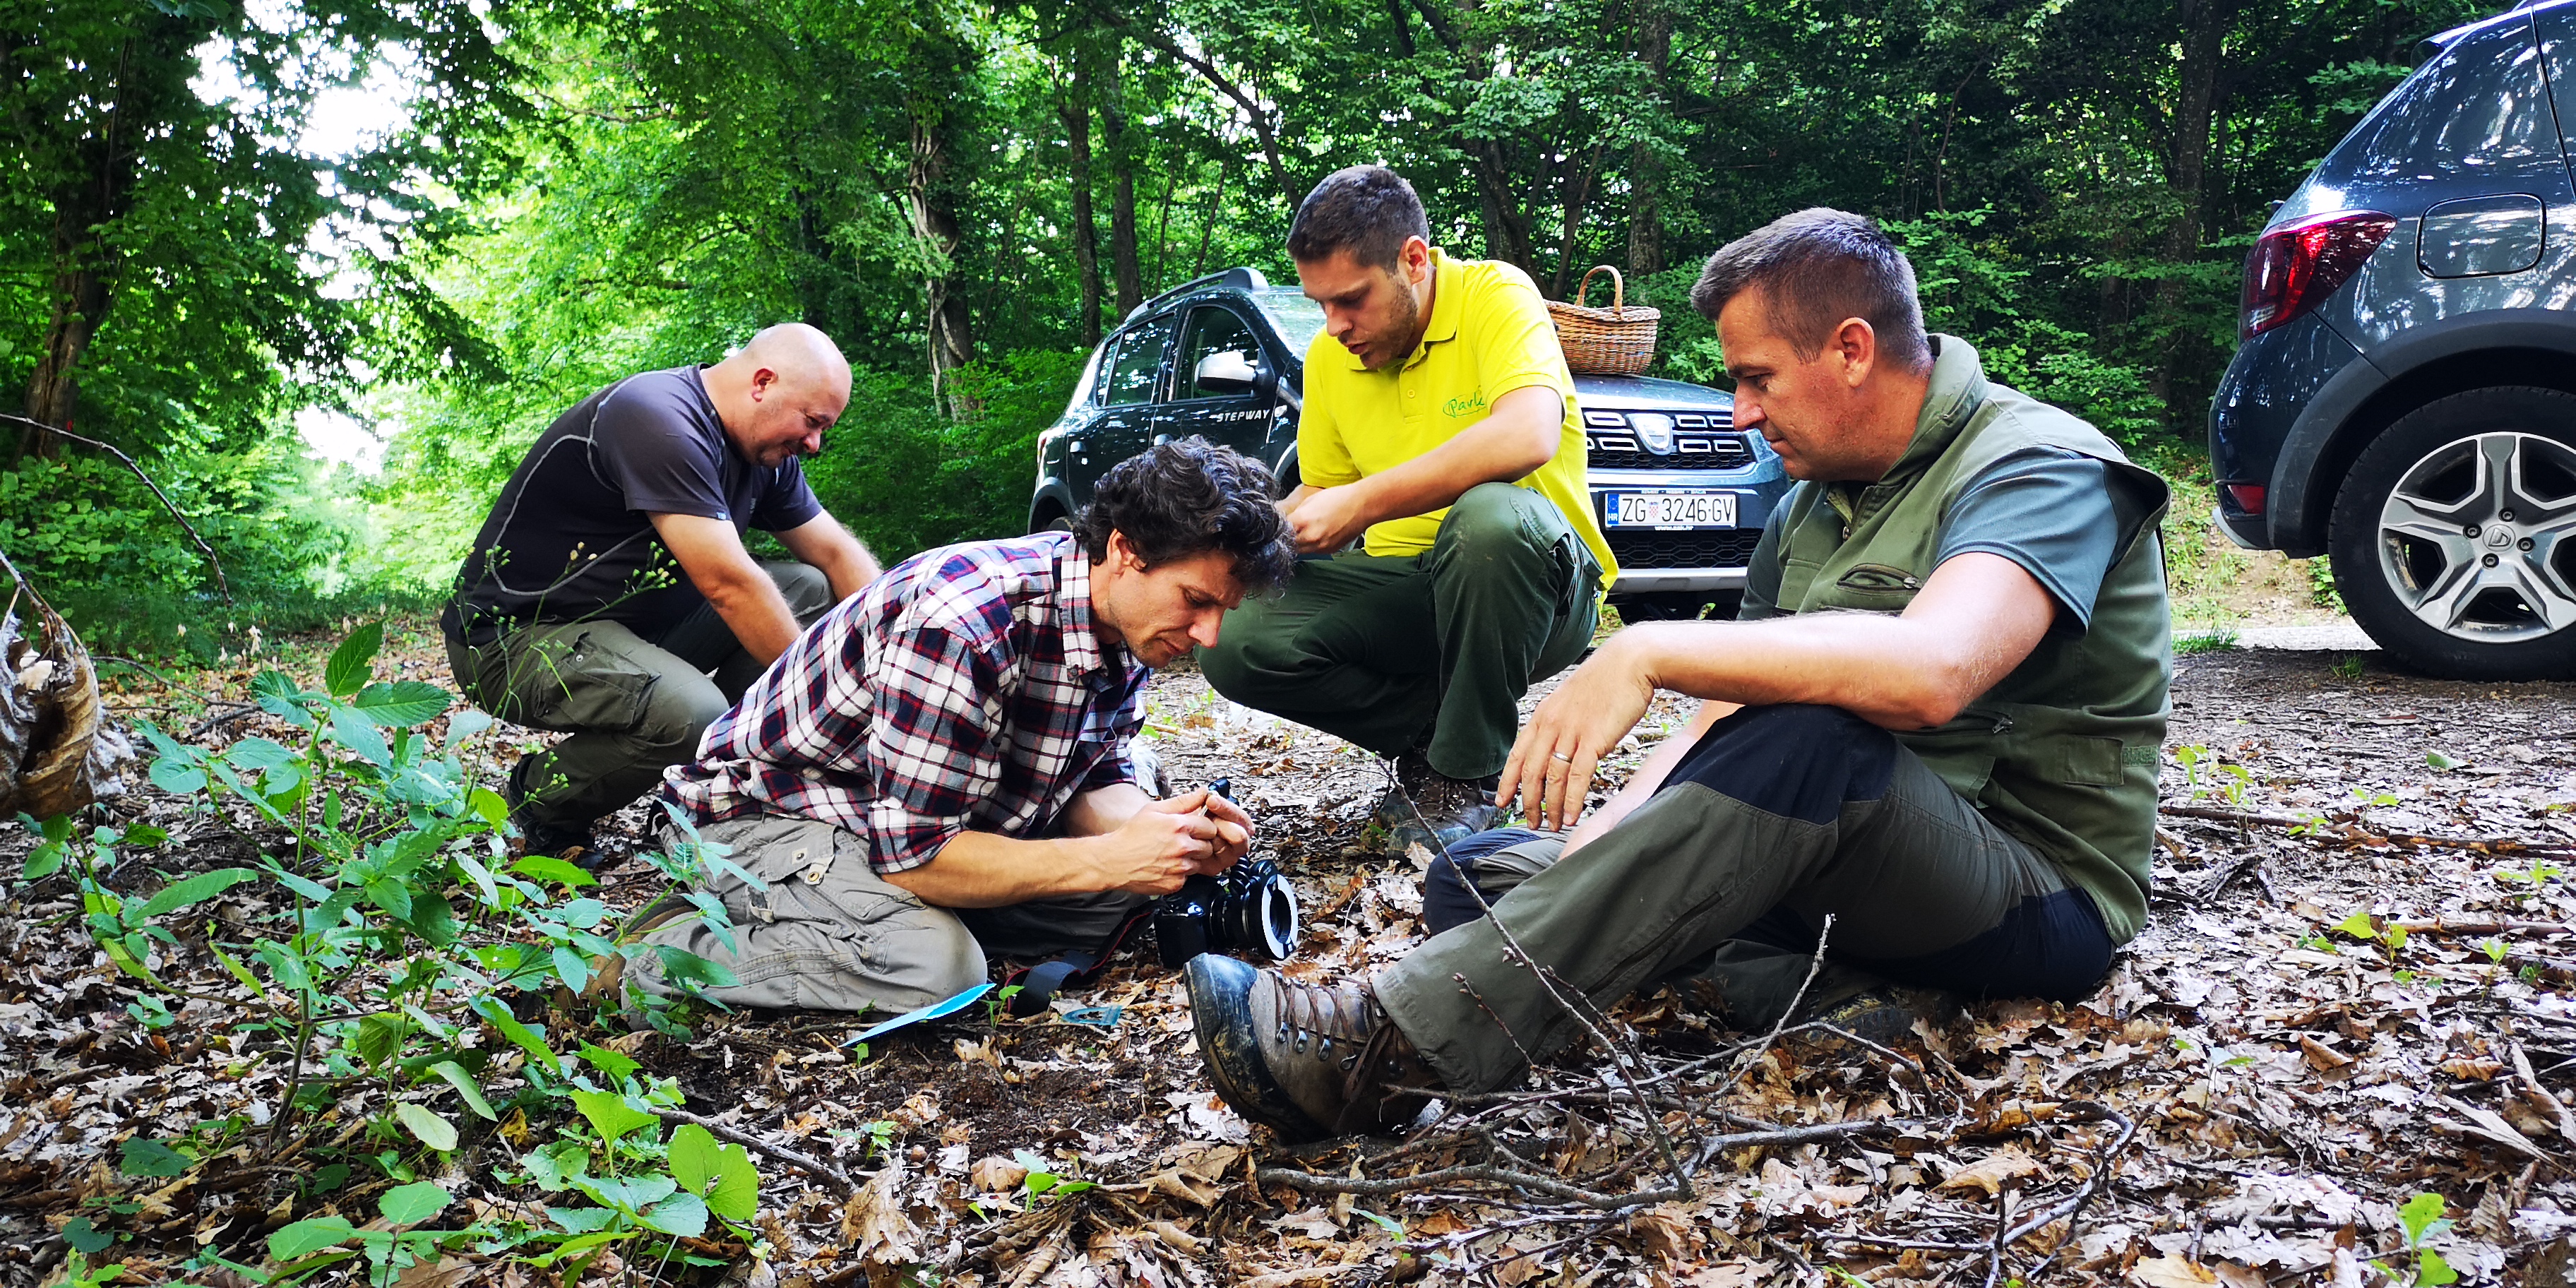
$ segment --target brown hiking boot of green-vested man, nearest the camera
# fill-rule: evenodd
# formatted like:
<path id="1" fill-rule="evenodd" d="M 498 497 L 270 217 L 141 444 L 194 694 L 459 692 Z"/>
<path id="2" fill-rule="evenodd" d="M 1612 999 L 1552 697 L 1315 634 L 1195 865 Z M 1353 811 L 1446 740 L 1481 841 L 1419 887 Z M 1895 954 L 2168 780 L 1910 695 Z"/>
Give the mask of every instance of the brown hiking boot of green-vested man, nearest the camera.
<path id="1" fill-rule="evenodd" d="M 1185 974 L 1216 1095 L 1288 1141 L 1396 1131 L 1440 1090 L 1368 984 L 1301 984 L 1218 953 Z"/>

